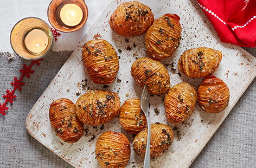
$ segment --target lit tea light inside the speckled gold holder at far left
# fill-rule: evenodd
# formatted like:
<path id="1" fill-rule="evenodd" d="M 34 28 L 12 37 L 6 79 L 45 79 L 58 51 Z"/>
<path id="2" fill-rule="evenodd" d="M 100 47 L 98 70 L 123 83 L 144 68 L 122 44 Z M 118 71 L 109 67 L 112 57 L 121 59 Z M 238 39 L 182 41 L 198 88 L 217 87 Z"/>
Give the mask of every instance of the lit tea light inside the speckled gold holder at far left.
<path id="1" fill-rule="evenodd" d="M 47 46 L 49 40 L 47 34 L 41 29 L 33 29 L 24 38 L 25 47 L 31 53 L 42 53 Z"/>

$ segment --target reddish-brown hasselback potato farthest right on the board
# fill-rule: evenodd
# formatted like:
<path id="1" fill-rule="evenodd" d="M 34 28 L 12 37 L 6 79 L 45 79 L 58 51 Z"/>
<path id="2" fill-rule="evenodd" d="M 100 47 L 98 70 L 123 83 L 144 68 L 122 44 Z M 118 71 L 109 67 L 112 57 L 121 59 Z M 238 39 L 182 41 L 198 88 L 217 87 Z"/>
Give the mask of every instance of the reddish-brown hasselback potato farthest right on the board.
<path id="1" fill-rule="evenodd" d="M 221 79 L 210 75 L 198 88 L 198 104 L 208 113 L 219 113 L 228 106 L 229 89 Z"/>

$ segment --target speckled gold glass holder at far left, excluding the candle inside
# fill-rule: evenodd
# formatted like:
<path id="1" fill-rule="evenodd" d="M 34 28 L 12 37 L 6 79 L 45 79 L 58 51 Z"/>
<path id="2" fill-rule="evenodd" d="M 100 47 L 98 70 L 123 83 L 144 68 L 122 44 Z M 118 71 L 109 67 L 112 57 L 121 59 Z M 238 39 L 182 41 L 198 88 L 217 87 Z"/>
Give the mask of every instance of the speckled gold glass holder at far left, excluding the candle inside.
<path id="1" fill-rule="evenodd" d="M 30 51 L 25 47 L 24 38 L 33 29 L 42 29 L 46 31 L 48 37 L 47 48 L 41 53 L 35 55 L 31 54 Z M 39 60 L 43 57 L 46 57 L 52 53 L 53 46 L 53 33 L 50 30 L 49 25 L 38 17 L 25 17 L 22 20 L 18 21 L 14 27 L 11 29 L 10 33 L 10 43 L 11 48 L 14 50 L 16 55 L 22 57 L 25 60 Z"/>

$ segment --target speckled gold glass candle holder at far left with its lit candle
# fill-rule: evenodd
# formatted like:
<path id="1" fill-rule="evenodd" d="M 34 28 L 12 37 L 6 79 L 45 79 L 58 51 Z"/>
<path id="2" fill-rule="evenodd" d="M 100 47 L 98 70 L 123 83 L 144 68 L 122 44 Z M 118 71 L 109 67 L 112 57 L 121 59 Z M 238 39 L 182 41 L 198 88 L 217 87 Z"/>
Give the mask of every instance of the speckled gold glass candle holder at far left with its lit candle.
<path id="1" fill-rule="evenodd" d="M 52 53 L 52 30 L 40 18 L 26 17 L 12 28 L 10 43 L 18 56 L 26 60 L 38 60 Z"/>

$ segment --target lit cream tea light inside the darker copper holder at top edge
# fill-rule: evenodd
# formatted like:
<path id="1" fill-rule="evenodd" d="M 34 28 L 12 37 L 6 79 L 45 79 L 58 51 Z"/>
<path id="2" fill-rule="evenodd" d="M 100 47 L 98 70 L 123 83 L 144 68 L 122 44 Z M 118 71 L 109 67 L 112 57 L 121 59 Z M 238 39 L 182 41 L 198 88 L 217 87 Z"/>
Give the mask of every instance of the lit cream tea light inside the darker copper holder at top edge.
<path id="1" fill-rule="evenodd" d="M 64 5 L 60 10 L 61 21 L 68 26 L 78 25 L 83 18 L 82 9 L 79 5 L 68 3 Z"/>

